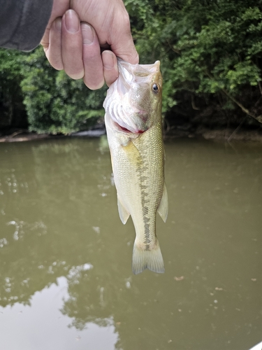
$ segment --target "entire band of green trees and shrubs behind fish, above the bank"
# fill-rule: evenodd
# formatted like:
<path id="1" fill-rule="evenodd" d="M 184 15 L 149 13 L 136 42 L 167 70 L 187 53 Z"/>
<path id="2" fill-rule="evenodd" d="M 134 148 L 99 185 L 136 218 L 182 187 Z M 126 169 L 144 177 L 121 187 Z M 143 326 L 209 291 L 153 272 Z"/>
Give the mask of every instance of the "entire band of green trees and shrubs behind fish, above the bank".
<path id="1" fill-rule="evenodd" d="M 124 3 L 140 64 L 161 61 L 165 134 L 260 140 L 262 1 Z M 68 135 L 99 123 L 103 128 L 106 90 L 89 90 L 56 71 L 41 47 L 0 49 L 0 134 Z M 22 139 L 22 133 L 7 139 Z"/>

